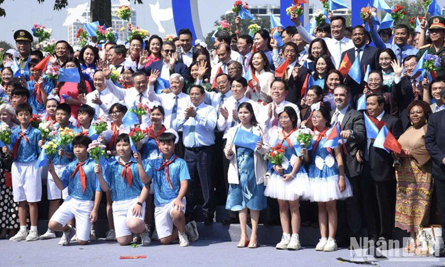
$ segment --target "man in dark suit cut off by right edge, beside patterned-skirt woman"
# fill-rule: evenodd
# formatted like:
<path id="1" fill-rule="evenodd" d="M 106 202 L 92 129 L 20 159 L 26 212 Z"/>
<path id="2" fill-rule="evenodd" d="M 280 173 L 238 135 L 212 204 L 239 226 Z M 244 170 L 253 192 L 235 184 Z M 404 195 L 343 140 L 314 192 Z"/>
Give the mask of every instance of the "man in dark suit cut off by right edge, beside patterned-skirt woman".
<path id="1" fill-rule="evenodd" d="M 442 101 L 445 100 L 445 90 L 441 91 Z M 437 199 L 439 200 L 441 225 L 445 226 L 445 110 L 433 113 L 429 116 L 428 129 L 425 134 L 425 146 L 433 158 L 433 177 L 436 186 Z M 445 240 L 445 231 L 442 231 L 442 239 Z M 441 248 L 441 255 L 445 254 Z"/>

